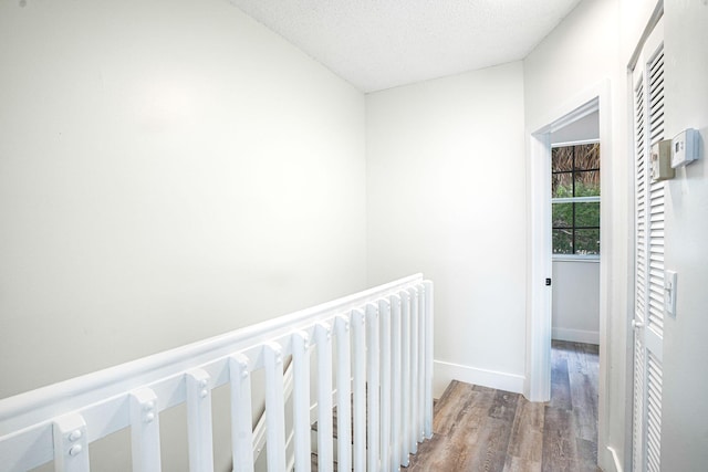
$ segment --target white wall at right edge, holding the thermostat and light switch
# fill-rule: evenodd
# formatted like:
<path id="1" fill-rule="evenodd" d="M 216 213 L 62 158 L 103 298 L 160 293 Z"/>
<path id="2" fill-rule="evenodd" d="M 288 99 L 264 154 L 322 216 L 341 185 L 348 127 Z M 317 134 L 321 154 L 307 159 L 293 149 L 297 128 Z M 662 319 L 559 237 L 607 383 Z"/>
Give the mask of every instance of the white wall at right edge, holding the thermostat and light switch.
<path id="1" fill-rule="evenodd" d="M 708 4 L 665 2 L 666 136 L 699 129 L 700 160 L 676 172 L 666 200 L 666 269 L 678 272 L 677 314 L 664 325 L 662 470 L 708 464 Z"/>

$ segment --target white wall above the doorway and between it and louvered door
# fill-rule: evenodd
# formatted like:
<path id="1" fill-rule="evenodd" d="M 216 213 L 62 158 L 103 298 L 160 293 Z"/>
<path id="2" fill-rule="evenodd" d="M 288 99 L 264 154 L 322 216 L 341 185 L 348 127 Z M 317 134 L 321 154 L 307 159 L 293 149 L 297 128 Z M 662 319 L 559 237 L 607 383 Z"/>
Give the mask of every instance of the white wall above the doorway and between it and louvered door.
<path id="1" fill-rule="evenodd" d="M 610 81 L 610 104 L 601 106 L 603 208 L 603 255 L 600 298 L 601 390 L 607 390 L 607 401 L 601 398 L 598 461 L 603 470 L 614 470 L 610 449 L 624 462 L 626 411 L 626 336 L 628 282 L 629 195 L 626 159 L 626 61 L 618 55 L 618 0 L 585 0 L 549 34 L 524 60 L 525 125 L 529 134 L 561 118 L 583 105 L 589 91 Z M 638 36 L 637 36 L 638 39 Z M 624 61 L 624 64 L 623 64 Z M 607 106 L 608 105 L 608 106 Z M 602 120 L 611 127 L 603 137 Z M 605 162 L 608 166 L 605 166 Z M 606 172 L 606 174 L 605 174 Z M 604 177 L 603 177 L 604 178 Z M 603 210 L 604 211 L 604 210 Z M 608 224 L 605 224 L 608 222 Z M 601 275 L 602 276 L 602 275 Z"/>

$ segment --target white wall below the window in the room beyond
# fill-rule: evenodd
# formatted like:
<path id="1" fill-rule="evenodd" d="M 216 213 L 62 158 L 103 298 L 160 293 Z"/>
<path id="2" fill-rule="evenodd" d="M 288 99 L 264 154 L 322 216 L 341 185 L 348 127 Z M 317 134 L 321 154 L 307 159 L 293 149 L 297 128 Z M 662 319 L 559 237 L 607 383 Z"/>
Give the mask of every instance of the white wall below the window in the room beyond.
<path id="1" fill-rule="evenodd" d="M 553 339 L 600 344 L 600 262 L 553 261 Z"/>

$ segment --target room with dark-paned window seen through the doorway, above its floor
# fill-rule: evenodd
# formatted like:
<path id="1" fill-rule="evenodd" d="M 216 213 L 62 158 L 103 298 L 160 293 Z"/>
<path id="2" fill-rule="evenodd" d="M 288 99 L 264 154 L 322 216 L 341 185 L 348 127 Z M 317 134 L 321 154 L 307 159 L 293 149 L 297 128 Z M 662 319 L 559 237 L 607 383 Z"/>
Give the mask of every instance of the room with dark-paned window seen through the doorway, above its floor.
<path id="1" fill-rule="evenodd" d="M 600 344 L 598 113 L 551 134 L 552 338 Z"/>

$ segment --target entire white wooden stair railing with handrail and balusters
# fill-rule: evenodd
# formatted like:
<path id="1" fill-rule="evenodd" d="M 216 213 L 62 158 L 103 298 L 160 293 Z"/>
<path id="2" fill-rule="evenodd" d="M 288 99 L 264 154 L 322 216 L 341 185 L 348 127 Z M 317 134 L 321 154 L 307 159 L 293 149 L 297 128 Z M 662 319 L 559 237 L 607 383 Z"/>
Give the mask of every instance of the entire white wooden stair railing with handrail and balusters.
<path id="1" fill-rule="evenodd" d="M 283 361 L 289 356 L 294 458 L 287 457 L 285 443 Z M 417 443 L 433 436 L 433 284 L 412 275 L 0 400 L 0 471 L 53 462 L 56 471 L 86 472 L 90 444 L 125 428 L 131 428 L 133 470 L 159 471 L 159 413 L 186 403 L 189 469 L 210 472 L 211 390 L 227 384 L 233 468 L 253 471 L 260 451 L 254 450 L 250 378 L 259 369 L 266 373 L 269 472 L 293 464 L 298 472 L 310 471 L 314 399 L 320 470 L 332 470 L 336 452 L 339 470 L 397 471 Z M 310 392 L 311 374 L 316 392 Z"/>

